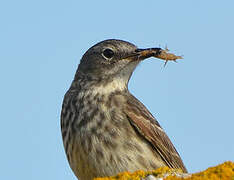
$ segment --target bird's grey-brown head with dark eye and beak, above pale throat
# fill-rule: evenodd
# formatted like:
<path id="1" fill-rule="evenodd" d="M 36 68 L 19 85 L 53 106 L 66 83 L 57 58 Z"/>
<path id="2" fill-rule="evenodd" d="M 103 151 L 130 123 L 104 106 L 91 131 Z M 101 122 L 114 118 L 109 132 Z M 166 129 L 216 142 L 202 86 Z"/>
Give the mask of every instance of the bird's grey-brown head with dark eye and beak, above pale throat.
<path id="1" fill-rule="evenodd" d="M 138 49 L 126 41 L 110 39 L 97 43 L 83 55 L 78 70 L 79 74 L 91 79 L 121 78 L 128 82 L 132 72 L 143 59 L 151 57 L 160 48 Z"/>

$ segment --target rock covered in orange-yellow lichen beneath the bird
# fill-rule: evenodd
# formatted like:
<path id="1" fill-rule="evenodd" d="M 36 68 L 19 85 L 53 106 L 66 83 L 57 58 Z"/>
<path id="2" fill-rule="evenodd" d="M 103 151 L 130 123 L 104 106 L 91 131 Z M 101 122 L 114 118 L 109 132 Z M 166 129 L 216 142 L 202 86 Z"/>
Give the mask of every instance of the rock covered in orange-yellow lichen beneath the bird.
<path id="1" fill-rule="evenodd" d="M 154 178 L 155 177 L 155 178 Z M 154 171 L 123 172 L 116 176 L 95 178 L 94 180 L 234 180 L 234 163 L 225 162 L 205 171 L 184 174 L 180 170 L 168 167 L 158 168 Z"/>

